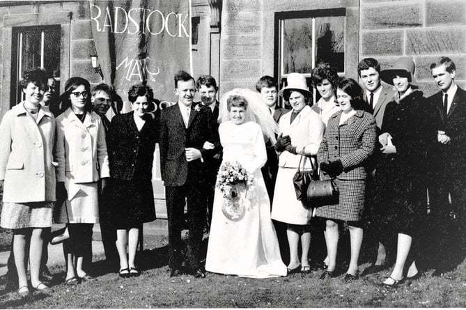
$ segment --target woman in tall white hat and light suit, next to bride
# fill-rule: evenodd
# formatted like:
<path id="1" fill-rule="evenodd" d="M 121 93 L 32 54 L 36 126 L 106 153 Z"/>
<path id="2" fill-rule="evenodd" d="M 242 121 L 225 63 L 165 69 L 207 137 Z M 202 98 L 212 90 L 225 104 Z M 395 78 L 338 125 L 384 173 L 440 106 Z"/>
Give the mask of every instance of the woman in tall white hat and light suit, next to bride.
<path id="1" fill-rule="evenodd" d="M 324 133 L 324 123 L 318 114 L 306 104 L 312 97 L 304 75 L 291 73 L 288 75 L 288 86 L 280 91 L 280 95 L 290 102 L 293 108 L 279 121 L 280 136 L 275 149 L 279 155 L 279 172 L 275 185 L 272 203 L 272 219 L 288 224 L 286 235 L 290 247 L 290 263 L 288 273 L 311 272 L 309 265 L 309 247 L 311 244 L 310 222 L 311 206 L 305 206 L 296 199 L 293 176 L 304 154 L 301 169 L 310 170 L 311 160 L 316 165 L 320 141 Z M 302 255 L 298 257 L 298 245 L 301 240 Z"/>

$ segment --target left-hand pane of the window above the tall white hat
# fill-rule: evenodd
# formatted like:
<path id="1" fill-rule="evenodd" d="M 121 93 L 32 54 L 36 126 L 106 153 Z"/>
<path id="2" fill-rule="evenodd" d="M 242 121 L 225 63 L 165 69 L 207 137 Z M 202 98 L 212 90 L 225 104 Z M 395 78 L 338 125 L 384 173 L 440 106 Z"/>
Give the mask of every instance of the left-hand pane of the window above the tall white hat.
<path id="1" fill-rule="evenodd" d="M 284 20 L 284 74 L 312 70 L 312 18 Z"/>

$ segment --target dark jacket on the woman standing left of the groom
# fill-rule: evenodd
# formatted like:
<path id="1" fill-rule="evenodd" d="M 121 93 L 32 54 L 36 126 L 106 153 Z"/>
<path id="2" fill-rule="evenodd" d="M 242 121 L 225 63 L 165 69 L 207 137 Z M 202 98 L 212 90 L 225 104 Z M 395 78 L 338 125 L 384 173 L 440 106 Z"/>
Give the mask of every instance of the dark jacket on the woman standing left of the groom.
<path id="1" fill-rule="evenodd" d="M 134 112 L 111 119 L 107 135 L 110 176 L 123 180 L 150 180 L 157 142 L 157 122 L 146 115 L 146 123 L 137 130 Z"/>

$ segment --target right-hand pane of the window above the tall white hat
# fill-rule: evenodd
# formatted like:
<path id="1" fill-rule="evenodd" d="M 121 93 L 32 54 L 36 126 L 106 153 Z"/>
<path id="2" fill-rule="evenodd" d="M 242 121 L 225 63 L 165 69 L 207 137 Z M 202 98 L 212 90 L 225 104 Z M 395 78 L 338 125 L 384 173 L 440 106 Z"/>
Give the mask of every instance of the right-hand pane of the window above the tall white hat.
<path id="1" fill-rule="evenodd" d="M 316 63 L 332 63 L 345 72 L 345 17 L 316 17 Z"/>

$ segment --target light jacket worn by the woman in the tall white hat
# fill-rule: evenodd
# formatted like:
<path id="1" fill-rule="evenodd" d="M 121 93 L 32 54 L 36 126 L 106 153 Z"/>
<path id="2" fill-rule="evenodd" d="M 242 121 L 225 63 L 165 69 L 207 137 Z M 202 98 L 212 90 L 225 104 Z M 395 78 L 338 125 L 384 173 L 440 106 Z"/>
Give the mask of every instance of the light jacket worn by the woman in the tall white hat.
<path id="1" fill-rule="evenodd" d="M 324 134 L 322 118 L 311 107 L 306 106 L 296 116 L 293 123 L 290 123 L 292 112 L 293 110 L 281 116 L 279 122 L 280 134 L 289 135 L 293 146 L 299 148 L 305 146 L 306 155 L 316 155 Z M 279 156 L 279 166 L 297 168 L 300 164 L 300 157 L 301 155 L 294 155 L 284 150 Z M 303 160 L 304 164 L 301 163 L 301 167 L 311 169 L 309 157 L 304 157 Z"/>

